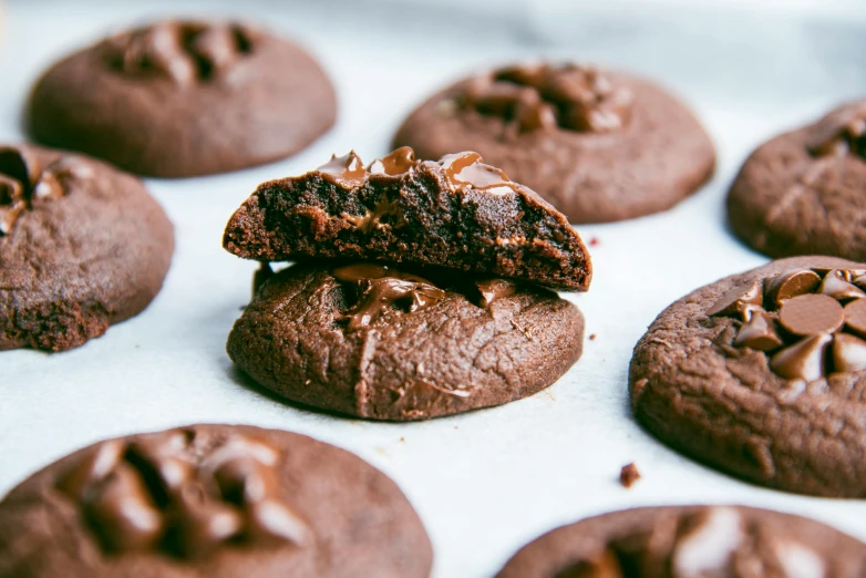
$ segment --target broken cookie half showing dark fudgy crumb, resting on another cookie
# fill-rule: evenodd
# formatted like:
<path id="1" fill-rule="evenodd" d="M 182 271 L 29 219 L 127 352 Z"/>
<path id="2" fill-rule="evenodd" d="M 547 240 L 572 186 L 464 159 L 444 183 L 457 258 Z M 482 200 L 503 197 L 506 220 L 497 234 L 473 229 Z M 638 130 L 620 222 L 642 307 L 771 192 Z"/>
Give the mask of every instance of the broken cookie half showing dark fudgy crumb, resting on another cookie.
<path id="1" fill-rule="evenodd" d="M 340 258 L 433 265 L 586 290 L 589 254 L 568 220 L 476 153 L 419 162 L 354 153 L 265 183 L 231 216 L 225 248 L 260 261 Z"/>

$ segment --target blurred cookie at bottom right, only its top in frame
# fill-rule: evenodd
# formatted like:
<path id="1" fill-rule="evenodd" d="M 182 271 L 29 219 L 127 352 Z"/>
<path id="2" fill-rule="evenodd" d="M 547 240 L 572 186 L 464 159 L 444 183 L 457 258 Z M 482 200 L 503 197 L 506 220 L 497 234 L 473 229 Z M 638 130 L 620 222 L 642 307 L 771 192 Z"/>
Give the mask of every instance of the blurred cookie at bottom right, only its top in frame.
<path id="1" fill-rule="evenodd" d="M 636 508 L 557 528 L 497 578 L 859 578 L 866 545 L 800 516 L 732 506 Z"/>

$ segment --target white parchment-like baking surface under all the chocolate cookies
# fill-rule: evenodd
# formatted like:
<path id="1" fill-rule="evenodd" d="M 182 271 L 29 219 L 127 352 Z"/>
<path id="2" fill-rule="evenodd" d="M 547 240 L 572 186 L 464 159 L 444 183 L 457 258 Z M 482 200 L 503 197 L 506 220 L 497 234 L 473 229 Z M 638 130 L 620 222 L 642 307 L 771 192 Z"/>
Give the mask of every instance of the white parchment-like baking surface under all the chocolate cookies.
<path id="1" fill-rule="evenodd" d="M 808 515 L 866 539 L 866 503 L 759 488 L 656 442 L 631 419 L 631 349 L 662 308 L 765 259 L 724 228 L 723 198 L 762 140 L 866 93 L 864 28 L 856 19 L 652 12 L 629 20 L 569 9 L 513 20 L 381 3 L 243 4 L 243 17 L 299 39 L 337 85 L 340 120 L 298 156 L 229 175 L 151 180 L 176 226 L 162 293 L 141 316 L 83 348 L 0 353 L 0 494 L 56 457 L 103 437 L 193 422 L 248 423 L 346 447 L 391 475 L 433 540 L 435 577 L 492 576 L 515 549 L 553 527 L 639 505 L 740 503 Z M 549 8 L 549 7 L 548 7 Z M 0 137 L 21 138 L 24 95 L 69 49 L 161 13 L 237 13 L 230 2 L 18 1 L 0 47 Z M 647 12 L 647 11 L 645 11 Z M 725 21 L 724 18 L 729 20 Z M 526 25 L 524 25 L 526 24 Z M 563 44 L 565 42 L 565 44 Z M 371 423 L 292 407 L 258 391 L 225 354 L 249 300 L 254 265 L 220 248 L 231 211 L 261 180 L 302 173 L 331 153 L 365 161 L 389 151 L 402 117 L 466 71 L 514 58 L 573 55 L 654 76 L 682 94 L 719 148 L 713 182 L 676 209 L 578 227 L 596 276 L 567 296 L 587 320 L 583 359 L 548 390 L 502 407 L 425 423 Z M 619 468 L 642 478 L 622 488 Z"/>

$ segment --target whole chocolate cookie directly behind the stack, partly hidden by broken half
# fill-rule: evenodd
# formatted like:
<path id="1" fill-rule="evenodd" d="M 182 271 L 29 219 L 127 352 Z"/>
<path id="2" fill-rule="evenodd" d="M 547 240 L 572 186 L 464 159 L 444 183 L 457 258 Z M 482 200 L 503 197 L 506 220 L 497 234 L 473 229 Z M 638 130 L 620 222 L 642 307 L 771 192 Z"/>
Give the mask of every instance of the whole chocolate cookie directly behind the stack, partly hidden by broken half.
<path id="1" fill-rule="evenodd" d="M 571 223 L 666 210 L 713 172 L 694 115 L 653 83 L 575 64 L 518 64 L 462 80 L 394 137 L 421 158 L 477 151 Z"/>

